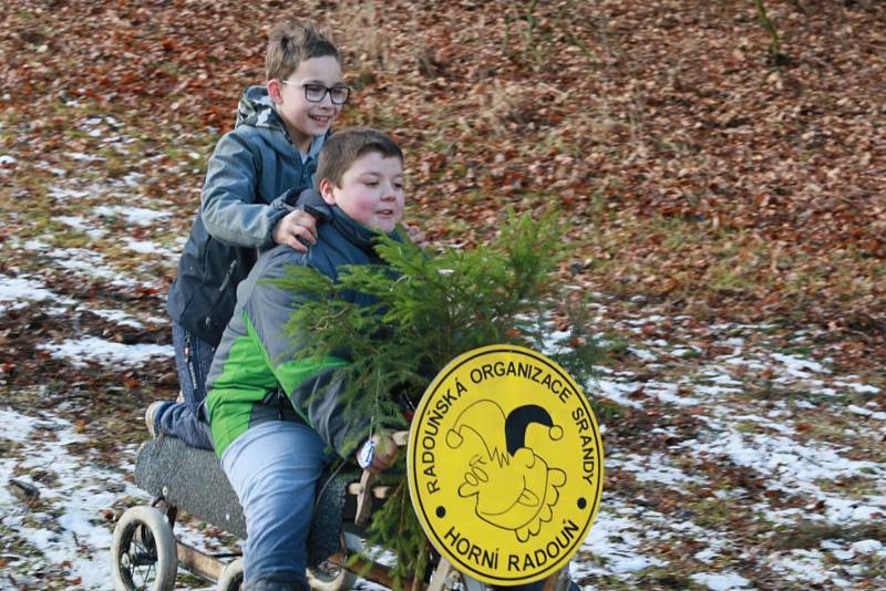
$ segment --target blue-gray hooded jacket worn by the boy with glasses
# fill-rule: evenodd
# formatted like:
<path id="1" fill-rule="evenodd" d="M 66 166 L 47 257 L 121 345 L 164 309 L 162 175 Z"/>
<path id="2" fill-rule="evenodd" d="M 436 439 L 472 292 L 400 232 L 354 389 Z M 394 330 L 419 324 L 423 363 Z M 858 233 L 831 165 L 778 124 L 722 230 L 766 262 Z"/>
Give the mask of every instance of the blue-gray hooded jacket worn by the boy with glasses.
<path id="1" fill-rule="evenodd" d="M 237 283 L 258 251 L 274 246 L 277 221 L 313 185 L 324 139 L 316 138 L 302 160 L 267 90 L 244 92 L 236 127 L 222 136 L 209 158 L 200 209 L 169 288 L 166 310 L 175 322 L 218 345 L 234 312 Z M 310 209 L 312 204 L 299 205 Z"/>

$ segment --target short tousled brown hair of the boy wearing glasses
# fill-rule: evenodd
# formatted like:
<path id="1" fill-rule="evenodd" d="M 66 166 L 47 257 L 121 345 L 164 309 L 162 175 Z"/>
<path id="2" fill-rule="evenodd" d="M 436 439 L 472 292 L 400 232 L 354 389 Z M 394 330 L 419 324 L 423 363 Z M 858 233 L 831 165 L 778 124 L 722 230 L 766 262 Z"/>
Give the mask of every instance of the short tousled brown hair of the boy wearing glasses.
<path id="1" fill-rule="evenodd" d="M 323 31 L 298 20 L 277 23 L 268 33 L 265 74 L 268 80 L 286 80 L 305 60 L 331 55 L 341 62 L 338 48 Z"/>

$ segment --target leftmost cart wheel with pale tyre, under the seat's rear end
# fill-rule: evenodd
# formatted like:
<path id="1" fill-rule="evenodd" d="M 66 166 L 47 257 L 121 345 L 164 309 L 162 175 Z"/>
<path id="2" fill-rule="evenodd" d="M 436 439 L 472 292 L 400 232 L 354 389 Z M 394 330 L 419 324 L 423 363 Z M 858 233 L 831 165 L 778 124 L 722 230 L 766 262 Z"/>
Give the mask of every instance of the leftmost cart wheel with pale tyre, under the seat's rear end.
<path id="1" fill-rule="evenodd" d="M 127 509 L 114 528 L 111 576 L 119 591 L 169 591 L 178 554 L 173 528 L 153 507 Z"/>

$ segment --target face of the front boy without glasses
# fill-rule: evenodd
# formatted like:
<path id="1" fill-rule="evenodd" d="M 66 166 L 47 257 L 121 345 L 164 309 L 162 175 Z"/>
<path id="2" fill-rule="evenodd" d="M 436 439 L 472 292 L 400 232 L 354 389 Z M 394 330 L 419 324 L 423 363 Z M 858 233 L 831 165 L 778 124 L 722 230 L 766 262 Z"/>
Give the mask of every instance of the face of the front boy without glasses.
<path id="1" fill-rule="evenodd" d="M 320 180 L 320 194 L 363 226 L 391 232 L 403 217 L 403 162 L 368 152 L 344 172 L 341 186 L 328 178 Z"/>

